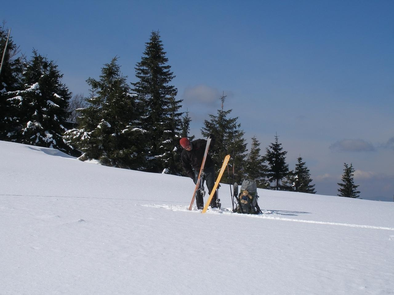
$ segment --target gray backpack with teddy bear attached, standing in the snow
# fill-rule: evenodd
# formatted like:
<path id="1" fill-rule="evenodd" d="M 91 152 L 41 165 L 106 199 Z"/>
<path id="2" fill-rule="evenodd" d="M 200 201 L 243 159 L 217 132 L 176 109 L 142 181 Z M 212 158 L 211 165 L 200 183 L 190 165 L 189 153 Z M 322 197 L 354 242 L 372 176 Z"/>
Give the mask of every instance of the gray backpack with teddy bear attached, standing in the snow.
<path id="1" fill-rule="evenodd" d="M 236 189 L 236 194 L 238 194 L 238 184 L 237 188 L 235 186 L 236 183 L 234 184 L 234 192 Z M 236 194 L 234 195 L 236 196 Z M 244 179 L 241 184 L 240 193 L 236 199 L 238 201 L 236 212 L 243 214 L 258 214 L 261 212 L 257 203 L 258 195 L 256 181 L 252 179 Z"/>

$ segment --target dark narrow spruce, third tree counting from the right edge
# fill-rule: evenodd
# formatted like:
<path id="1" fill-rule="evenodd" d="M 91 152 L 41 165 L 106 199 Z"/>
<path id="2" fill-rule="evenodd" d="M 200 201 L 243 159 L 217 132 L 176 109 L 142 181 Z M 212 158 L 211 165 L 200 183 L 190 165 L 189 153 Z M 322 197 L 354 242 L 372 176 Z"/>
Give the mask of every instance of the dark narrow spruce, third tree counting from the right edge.
<path id="1" fill-rule="evenodd" d="M 268 181 L 270 183 L 275 182 L 275 186 L 271 187 L 275 190 L 283 189 L 281 185 L 282 179 L 284 179 L 289 173 L 289 165 L 286 164 L 287 151 L 282 151 L 282 144 L 278 142 L 278 136 L 275 136 L 275 143 L 271 143 L 269 148 L 266 148 L 266 161 L 268 162 Z"/>

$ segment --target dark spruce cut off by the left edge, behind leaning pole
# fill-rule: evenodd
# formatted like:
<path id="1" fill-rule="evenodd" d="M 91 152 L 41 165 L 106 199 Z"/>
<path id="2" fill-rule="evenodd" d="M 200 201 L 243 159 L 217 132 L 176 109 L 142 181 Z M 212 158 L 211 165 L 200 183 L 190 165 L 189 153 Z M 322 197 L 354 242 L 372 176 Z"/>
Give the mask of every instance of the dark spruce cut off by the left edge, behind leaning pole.
<path id="1" fill-rule="evenodd" d="M 0 61 L 9 32 L 4 26 L 5 22 L 0 25 Z M 15 113 L 17 109 L 11 107 L 11 99 L 15 97 L 13 92 L 20 89 L 22 83 L 22 60 L 16 57 L 18 53 L 19 46 L 13 42 L 10 35 L 0 72 L 0 140 L 10 140 L 9 135 L 14 134 L 19 127 Z"/>

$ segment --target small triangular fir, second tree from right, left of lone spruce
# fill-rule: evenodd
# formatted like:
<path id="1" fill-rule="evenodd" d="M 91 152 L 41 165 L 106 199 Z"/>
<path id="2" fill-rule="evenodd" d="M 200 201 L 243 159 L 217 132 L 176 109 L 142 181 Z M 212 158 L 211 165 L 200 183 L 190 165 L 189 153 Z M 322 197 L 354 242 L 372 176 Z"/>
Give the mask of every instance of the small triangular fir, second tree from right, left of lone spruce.
<path id="1" fill-rule="evenodd" d="M 296 169 L 288 173 L 283 183 L 288 186 L 290 191 L 316 194 L 315 185 L 310 184 L 311 182 L 310 171 L 300 156 L 297 158 Z"/>

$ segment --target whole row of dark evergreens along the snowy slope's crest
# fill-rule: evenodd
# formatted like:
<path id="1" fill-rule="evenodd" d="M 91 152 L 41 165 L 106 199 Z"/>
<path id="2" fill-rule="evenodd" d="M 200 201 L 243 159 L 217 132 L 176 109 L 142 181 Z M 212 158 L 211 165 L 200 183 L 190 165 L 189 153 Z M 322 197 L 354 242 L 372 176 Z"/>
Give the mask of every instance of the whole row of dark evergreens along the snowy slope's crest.
<path id="1" fill-rule="evenodd" d="M 7 38 L 0 26 L 1 53 Z M 33 50 L 28 59 L 17 57 L 19 47 L 8 41 L 0 73 L 0 140 L 59 149 L 80 160 L 98 160 L 119 168 L 184 175 L 179 139 L 190 135 L 189 112 L 180 111 L 182 100 L 171 85 L 175 77 L 168 64 L 158 31 L 152 31 L 141 61 L 136 63 L 135 82 L 128 84 L 118 57 L 101 68 L 99 78 L 89 77 L 89 95 L 72 96 L 61 83 L 63 74 L 54 61 Z M 275 136 L 262 153 L 253 136 L 248 151 L 238 117 L 231 117 L 221 96 L 221 109 L 208 114 L 201 134 L 213 135 L 211 149 L 217 169 L 231 153 L 231 168 L 223 183 L 255 179 L 260 188 L 315 194 L 310 171 L 301 156 L 294 170 L 286 163 L 287 151 Z M 345 164 L 340 195 L 358 197 L 353 166 Z M 230 168 L 230 167 L 229 167 Z M 232 170 L 232 169 L 231 169 Z M 229 169 L 230 171 L 230 169 Z"/>

